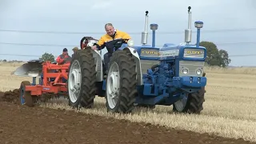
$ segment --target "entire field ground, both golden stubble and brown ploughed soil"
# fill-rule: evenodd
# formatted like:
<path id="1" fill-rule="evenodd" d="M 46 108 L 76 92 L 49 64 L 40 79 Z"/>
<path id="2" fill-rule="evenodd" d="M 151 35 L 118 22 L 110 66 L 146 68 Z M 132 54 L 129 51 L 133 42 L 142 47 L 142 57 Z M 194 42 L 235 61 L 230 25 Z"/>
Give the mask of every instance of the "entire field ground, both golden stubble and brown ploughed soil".
<path id="1" fill-rule="evenodd" d="M 172 106 L 107 114 L 104 98 L 74 111 L 66 98 L 29 108 L 18 104 L 21 64 L 0 63 L 1 143 L 256 143 L 256 70 L 208 68 L 201 115 L 173 114 Z"/>

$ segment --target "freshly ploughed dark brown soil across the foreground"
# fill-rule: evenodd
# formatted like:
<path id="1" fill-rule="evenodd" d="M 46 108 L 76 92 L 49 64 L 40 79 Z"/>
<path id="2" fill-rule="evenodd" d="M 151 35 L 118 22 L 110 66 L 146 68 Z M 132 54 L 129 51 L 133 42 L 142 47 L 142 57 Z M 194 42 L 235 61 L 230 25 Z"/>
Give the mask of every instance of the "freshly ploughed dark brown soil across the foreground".
<path id="1" fill-rule="evenodd" d="M 0 92 L 1 143 L 250 143 L 74 111 L 18 104 L 18 90 Z M 256 142 L 254 142 L 256 143 Z"/>

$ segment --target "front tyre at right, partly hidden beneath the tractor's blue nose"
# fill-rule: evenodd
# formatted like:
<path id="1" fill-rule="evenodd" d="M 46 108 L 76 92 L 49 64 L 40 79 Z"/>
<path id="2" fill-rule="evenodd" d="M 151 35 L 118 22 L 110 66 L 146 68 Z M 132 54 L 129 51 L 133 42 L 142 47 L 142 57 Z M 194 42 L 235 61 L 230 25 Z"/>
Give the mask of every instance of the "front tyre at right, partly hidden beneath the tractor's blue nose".
<path id="1" fill-rule="evenodd" d="M 206 73 L 202 76 L 205 77 L 205 75 Z M 203 110 L 203 102 L 205 102 L 205 93 L 205 86 L 203 86 L 200 90 L 192 94 L 188 94 L 187 98 L 183 98 L 182 100 L 174 103 L 174 112 L 200 114 Z"/>

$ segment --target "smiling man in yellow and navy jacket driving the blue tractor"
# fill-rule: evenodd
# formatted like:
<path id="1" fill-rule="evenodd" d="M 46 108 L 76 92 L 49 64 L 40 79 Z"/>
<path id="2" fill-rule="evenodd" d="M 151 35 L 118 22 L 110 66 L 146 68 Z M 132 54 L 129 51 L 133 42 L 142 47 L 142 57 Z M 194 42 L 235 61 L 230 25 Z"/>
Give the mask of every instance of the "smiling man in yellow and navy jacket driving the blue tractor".
<path id="1" fill-rule="evenodd" d="M 108 51 L 104 54 L 104 63 L 106 66 L 106 70 L 108 70 L 108 63 L 110 62 L 110 57 L 114 52 L 114 42 L 118 39 L 131 39 L 130 35 L 126 32 L 114 29 L 114 26 L 111 23 L 107 23 L 105 25 L 106 34 L 104 34 L 99 40 L 98 43 L 92 46 L 93 50 L 102 50 L 106 46 L 106 50 Z"/>

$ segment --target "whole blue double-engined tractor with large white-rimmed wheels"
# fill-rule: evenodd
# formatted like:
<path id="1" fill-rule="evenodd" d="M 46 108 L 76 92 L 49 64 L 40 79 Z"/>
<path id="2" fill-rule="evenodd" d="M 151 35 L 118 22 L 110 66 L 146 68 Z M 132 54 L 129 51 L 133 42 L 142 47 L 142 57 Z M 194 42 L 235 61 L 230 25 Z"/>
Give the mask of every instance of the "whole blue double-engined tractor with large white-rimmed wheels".
<path id="1" fill-rule="evenodd" d="M 69 105 L 91 108 L 95 95 L 106 98 L 108 112 L 130 113 L 135 106 L 170 106 L 180 113 L 200 114 L 205 102 L 206 77 L 204 64 L 206 48 L 199 46 L 203 22 L 194 22 L 198 29 L 197 44 L 191 42 L 191 7 L 188 8 L 189 27 L 185 44 L 155 46 L 157 24 L 153 30 L 152 46 L 147 43 L 148 11 L 142 46 L 133 40 L 116 42 L 109 69 L 103 70 L 101 52 L 87 46 L 78 50 L 70 63 L 68 78 Z"/>

